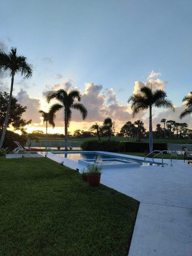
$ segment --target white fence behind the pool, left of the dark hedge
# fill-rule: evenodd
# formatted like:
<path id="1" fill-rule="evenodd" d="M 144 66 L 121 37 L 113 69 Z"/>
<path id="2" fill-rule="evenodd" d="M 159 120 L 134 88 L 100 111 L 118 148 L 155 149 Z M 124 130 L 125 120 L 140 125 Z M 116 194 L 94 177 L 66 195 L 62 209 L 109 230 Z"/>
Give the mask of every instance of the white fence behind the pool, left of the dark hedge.
<path id="1" fill-rule="evenodd" d="M 68 140 L 67 146 L 68 148 L 72 149 L 81 149 L 81 145 L 84 141 L 74 141 L 74 140 Z M 26 142 L 26 146 L 29 146 L 29 141 Z M 65 148 L 65 141 L 64 140 L 32 140 L 31 142 L 31 147 L 32 148 L 60 148 L 64 149 Z"/>

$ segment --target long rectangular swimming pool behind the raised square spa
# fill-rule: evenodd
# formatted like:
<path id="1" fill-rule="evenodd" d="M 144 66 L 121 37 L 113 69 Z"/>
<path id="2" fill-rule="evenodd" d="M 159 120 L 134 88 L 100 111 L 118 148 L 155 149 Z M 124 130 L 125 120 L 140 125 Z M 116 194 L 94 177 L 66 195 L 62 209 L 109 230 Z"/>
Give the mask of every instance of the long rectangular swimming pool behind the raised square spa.
<path id="1" fill-rule="evenodd" d="M 115 164 L 114 161 L 118 162 L 118 164 L 124 163 L 139 163 L 140 166 L 149 166 L 149 165 L 157 165 L 157 163 L 154 162 L 144 162 L 144 160 L 138 160 L 136 158 L 130 158 L 128 156 L 116 156 L 115 154 L 105 154 L 100 152 L 55 152 L 55 154 L 58 154 L 59 156 L 62 156 L 64 158 L 68 158 L 70 160 L 78 162 L 79 160 L 84 160 L 87 162 L 91 162 L 93 160 L 96 160 L 97 162 L 102 162 L 102 164 L 105 164 L 107 161 L 112 160 L 110 164 Z M 115 159 L 114 159 L 115 158 Z M 117 164 L 117 163 L 116 163 Z"/>

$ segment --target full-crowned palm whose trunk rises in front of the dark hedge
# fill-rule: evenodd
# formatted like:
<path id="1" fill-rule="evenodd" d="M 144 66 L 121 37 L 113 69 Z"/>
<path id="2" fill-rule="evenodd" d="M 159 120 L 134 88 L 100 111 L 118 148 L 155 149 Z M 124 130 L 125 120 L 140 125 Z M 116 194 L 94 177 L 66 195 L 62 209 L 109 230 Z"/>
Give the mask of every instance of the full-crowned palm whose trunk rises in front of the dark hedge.
<path id="1" fill-rule="evenodd" d="M 157 89 L 154 92 L 148 86 L 142 86 L 140 93 L 133 94 L 128 99 L 131 102 L 132 117 L 140 111 L 149 109 L 149 149 L 150 153 L 153 151 L 153 129 L 152 129 L 152 107 L 156 108 L 172 108 L 171 100 L 166 99 L 167 94 L 164 90 Z"/>

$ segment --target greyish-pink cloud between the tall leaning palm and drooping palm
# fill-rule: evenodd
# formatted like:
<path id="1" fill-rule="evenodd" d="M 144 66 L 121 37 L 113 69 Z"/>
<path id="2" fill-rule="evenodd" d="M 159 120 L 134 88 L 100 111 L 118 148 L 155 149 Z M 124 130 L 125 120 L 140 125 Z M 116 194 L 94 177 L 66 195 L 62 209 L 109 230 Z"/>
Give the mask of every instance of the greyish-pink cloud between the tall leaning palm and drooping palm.
<path id="1" fill-rule="evenodd" d="M 23 114 L 25 120 L 32 119 L 32 123 L 40 122 L 40 100 L 30 97 L 30 95 L 23 89 L 16 95 L 18 103 L 22 106 L 27 106 L 26 112 Z"/>

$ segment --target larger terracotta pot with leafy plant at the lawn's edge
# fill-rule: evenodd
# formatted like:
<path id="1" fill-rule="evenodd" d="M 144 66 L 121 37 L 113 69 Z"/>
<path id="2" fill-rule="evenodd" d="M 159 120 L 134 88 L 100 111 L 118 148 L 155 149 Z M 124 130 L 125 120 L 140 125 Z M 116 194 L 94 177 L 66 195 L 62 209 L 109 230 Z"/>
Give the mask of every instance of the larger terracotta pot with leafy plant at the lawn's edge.
<path id="1" fill-rule="evenodd" d="M 102 166 L 98 166 L 98 162 L 94 161 L 93 164 L 88 164 L 87 166 L 87 181 L 90 186 L 99 186 Z"/>

